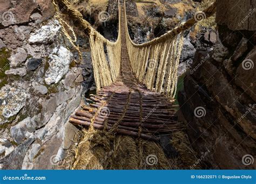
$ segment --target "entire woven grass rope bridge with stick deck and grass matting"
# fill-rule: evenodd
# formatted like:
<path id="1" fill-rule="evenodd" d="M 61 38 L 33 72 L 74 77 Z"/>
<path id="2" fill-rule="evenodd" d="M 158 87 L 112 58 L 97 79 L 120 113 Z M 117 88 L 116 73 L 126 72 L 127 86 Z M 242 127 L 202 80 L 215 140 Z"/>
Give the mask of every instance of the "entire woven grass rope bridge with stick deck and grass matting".
<path id="1" fill-rule="evenodd" d="M 90 105 L 82 104 L 70 118 L 71 123 L 85 126 L 70 168 L 190 167 L 196 157 L 186 138 L 184 124 L 178 122 L 177 105 L 173 102 L 183 31 L 196 24 L 196 18 L 159 38 L 134 44 L 129 36 L 125 1 L 119 1 L 118 38 L 113 43 L 93 29 L 67 0 L 54 0 L 53 4 L 60 22 L 64 22 L 60 18 L 60 10 L 64 10 L 89 35 L 97 86 L 97 95 L 91 95 Z M 202 13 L 207 18 L 215 9 L 213 3 Z M 164 135 L 169 135 L 167 141 L 178 157 L 166 157 L 160 144 Z"/>

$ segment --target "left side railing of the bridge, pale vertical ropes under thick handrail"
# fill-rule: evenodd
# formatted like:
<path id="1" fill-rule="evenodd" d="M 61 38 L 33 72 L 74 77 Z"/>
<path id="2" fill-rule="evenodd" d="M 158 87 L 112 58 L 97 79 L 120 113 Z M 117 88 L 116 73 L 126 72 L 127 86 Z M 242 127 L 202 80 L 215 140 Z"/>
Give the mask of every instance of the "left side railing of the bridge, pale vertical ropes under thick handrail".
<path id="1" fill-rule="evenodd" d="M 93 75 L 95 77 L 96 88 L 99 90 L 104 86 L 109 86 L 116 81 L 120 72 L 121 60 L 121 28 L 120 28 L 120 5 L 119 5 L 119 27 L 118 37 L 112 42 L 96 31 L 89 22 L 84 20 L 82 13 L 76 10 L 67 0 L 52 0 L 53 4 L 58 4 L 62 13 L 68 14 L 82 25 L 84 31 L 89 35 Z M 61 22 L 61 21 L 60 21 Z M 105 53 L 104 48 L 107 48 Z"/>

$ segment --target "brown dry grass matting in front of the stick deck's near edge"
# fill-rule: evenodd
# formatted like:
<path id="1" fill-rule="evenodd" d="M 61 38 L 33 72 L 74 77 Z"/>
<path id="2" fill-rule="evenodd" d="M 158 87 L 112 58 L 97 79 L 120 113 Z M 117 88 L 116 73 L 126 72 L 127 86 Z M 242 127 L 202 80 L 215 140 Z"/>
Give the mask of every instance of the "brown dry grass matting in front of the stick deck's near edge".
<path id="1" fill-rule="evenodd" d="M 81 136 L 76 140 L 78 137 Z M 68 150 L 58 169 L 184 169 L 197 161 L 183 131 L 172 135 L 171 144 L 179 152 L 179 157 L 172 159 L 166 158 L 158 143 L 129 136 L 114 137 L 102 130 L 83 130 L 79 141 Z M 149 155 L 156 155 L 155 164 L 147 164 Z"/>

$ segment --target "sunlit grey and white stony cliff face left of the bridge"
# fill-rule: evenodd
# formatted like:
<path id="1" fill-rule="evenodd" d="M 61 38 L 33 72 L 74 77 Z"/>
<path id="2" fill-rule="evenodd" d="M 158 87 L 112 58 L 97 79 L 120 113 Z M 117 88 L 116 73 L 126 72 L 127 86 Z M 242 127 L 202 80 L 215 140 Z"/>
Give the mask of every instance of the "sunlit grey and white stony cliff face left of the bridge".
<path id="1" fill-rule="evenodd" d="M 75 64 L 51 0 L 0 6 L 0 168 L 50 169 L 77 131 L 67 121 L 91 86 L 90 54 Z"/>

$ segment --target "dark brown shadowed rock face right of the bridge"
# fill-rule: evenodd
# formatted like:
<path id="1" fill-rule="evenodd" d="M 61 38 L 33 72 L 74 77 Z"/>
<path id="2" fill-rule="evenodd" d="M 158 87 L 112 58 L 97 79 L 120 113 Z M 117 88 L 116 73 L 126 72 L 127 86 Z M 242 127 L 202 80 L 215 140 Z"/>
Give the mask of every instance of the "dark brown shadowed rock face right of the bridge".
<path id="1" fill-rule="evenodd" d="M 218 40 L 197 50 L 178 100 L 187 134 L 206 168 L 256 166 L 256 4 L 217 1 Z M 241 10 L 242 9 L 242 10 Z"/>

